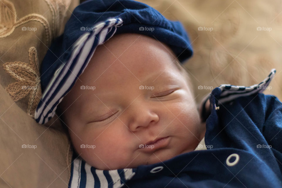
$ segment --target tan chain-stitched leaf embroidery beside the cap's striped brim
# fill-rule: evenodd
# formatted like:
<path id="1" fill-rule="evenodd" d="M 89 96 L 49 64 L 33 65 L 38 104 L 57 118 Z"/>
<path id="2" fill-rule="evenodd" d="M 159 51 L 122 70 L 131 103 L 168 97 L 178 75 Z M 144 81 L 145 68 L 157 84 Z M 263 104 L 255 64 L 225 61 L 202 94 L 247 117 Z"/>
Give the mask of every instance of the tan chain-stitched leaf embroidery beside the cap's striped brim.
<path id="1" fill-rule="evenodd" d="M 17 80 L 17 82 L 9 84 L 5 90 L 15 102 L 25 98 L 30 93 L 27 113 L 34 117 L 42 93 L 36 48 L 29 48 L 28 53 L 29 64 L 15 61 L 3 65 L 6 72 Z"/>

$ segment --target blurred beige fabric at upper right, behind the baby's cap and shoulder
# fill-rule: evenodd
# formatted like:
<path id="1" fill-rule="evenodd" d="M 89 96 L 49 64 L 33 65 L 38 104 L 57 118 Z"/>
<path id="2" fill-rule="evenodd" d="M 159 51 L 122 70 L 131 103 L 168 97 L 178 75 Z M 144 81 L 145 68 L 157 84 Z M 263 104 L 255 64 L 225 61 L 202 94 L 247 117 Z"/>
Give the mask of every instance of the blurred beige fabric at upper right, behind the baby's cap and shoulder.
<path id="1" fill-rule="evenodd" d="M 276 75 L 264 93 L 282 100 L 282 1 L 140 2 L 184 24 L 194 49 L 184 66 L 199 94 L 197 102 L 221 84 L 258 84 L 272 68 Z"/>

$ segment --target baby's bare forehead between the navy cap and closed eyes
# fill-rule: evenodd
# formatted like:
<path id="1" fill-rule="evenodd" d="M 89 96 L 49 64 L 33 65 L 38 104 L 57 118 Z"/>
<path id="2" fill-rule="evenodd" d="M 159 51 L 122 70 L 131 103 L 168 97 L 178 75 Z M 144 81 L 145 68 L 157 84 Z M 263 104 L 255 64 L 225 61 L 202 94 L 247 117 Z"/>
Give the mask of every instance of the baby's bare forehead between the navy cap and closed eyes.
<path id="1" fill-rule="evenodd" d="M 103 99 L 128 93 L 133 96 L 140 94 L 139 87 L 142 85 L 153 86 L 152 92 L 162 92 L 169 85 L 181 84 L 184 80 L 175 66 L 177 62 L 174 62 L 173 53 L 159 41 L 136 34 L 120 35 L 112 42 L 110 40 L 96 49 L 88 66 L 71 88 L 69 101 L 77 98 L 78 101 L 87 98 L 94 100 L 95 95 Z M 119 53 L 119 56 L 115 55 Z M 79 98 L 81 94 L 83 99 Z"/>

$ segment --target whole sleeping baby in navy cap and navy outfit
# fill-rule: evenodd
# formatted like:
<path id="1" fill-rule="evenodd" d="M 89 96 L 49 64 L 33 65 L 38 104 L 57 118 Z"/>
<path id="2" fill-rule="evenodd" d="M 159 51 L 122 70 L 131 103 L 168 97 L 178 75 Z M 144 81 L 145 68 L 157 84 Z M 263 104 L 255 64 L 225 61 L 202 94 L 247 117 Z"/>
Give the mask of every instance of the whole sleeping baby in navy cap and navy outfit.
<path id="1" fill-rule="evenodd" d="M 146 4 L 73 11 L 42 62 L 35 113 L 68 130 L 69 187 L 282 187 L 282 103 L 262 93 L 275 69 L 197 105 L 191 56 L 183 26 Z"/>

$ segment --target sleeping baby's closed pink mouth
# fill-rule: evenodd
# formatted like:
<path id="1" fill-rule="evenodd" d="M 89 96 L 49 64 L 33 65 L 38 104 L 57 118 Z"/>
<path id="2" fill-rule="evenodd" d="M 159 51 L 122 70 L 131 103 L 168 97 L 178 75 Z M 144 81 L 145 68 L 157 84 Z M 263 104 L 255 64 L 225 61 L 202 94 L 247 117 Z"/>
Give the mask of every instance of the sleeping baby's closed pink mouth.
<path id="1" fill-rule="evenodd" d="M 144 152 L 155 152 L 156 150 L 162 149 L 167 147 L 170 141 L 170 136 L 156 138 L 150 142 L 147 142 L 145 145 L 140 144 L 139 148 L 142 149 Z"/>

